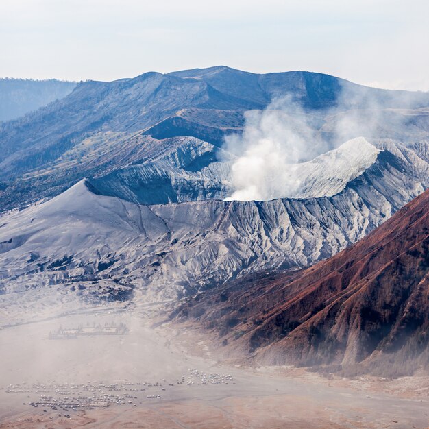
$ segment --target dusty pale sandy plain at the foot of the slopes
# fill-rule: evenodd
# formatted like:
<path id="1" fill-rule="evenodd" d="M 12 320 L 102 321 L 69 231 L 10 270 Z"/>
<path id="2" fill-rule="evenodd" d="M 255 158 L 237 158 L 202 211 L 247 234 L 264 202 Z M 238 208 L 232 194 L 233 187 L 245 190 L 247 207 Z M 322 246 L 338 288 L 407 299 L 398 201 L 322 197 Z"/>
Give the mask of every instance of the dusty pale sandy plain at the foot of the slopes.
<path id="1" fill-rule="evenodd" d="M 49 339 L 59 326 L 112 321 L 126 323 L 130 332 Z M 429 427 L 427 378 L 328 379 L 291 367 L 243 367 L 219 359 L 197 332 L 152 323 L 134 309 L 3 327 L 0 428 Z M 203 383 L 195 369 L 223 382 Z M 29 405 L 40 400 L 40 384 L 44 395 L 64 397 L 70 394 L 61 392 L 64 383 L 80 383 L 76 395 L 90 396 L 113 382 L 134 389 L 130 403 L 66 411 Z M 86 386 L 95 386 L 95 393 Z"/>

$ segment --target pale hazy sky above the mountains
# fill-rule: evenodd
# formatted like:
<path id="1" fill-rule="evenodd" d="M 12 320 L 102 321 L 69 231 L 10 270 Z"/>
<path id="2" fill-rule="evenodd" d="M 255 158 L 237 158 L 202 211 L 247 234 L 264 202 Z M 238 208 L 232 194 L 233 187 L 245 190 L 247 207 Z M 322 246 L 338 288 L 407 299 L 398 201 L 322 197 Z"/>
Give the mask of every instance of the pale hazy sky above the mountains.
<path id="1" fill-rule="evenodd" d="M 0 77 L 228 65 L 429 90 L 427 0 L 0 0 Z"/>

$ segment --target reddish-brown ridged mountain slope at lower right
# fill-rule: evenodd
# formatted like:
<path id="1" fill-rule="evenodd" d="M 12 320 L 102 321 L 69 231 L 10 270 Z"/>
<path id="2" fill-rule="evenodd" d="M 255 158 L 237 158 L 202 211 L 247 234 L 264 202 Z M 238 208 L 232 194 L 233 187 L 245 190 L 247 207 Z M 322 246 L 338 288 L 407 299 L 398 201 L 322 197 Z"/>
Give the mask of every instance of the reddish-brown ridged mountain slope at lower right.
<path id="1" fill-rule="evenodd" d="M 260 363 L 353 373 L 429 367 L 429 190 L 362 241 L 303 271 L 260 273 L 186 302 Z"/>

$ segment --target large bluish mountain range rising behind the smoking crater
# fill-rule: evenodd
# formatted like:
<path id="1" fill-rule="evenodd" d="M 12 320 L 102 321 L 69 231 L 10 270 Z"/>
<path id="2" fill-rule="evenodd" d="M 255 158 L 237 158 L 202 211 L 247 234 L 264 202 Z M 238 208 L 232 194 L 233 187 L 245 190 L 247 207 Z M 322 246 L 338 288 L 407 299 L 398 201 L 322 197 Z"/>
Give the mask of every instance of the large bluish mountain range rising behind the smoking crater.
<path id="1" fill-rule="evenodd" d="M 354 130 L 348 138 L 408 143 L 426 138 L 429 130 L 428 112 L 422 109 L 429 106 L 428 94 L 367 88 L 319 73 L 257 75 L 219 66 L 83 82 L 64 99 L 0 124 L 0 209 L 23 207 L 84 177 L 146 162 L 147 154 L 167 149 L 180 136 L 213 145 L 212 154 L 199 158 L 210 164 L 223 136 L 242 130 L 247 110 L 284 96 L 311 115 L 326 140 L 335 138 L 344 110 L 374 103 L 384 109 L 380 126 L 373 135 Z M 367 114 L 373 117 L 371 108 Z"/>

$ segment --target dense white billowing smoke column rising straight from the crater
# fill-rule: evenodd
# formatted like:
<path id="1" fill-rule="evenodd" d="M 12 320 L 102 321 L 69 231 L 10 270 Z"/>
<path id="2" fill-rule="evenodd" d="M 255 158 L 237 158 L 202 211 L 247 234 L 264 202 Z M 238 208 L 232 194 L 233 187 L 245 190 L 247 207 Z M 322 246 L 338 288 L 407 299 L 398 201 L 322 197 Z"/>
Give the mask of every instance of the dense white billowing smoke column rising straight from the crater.
<path id="1" fill-rule="evenodd" d="M 265 110 L 245 114 L 241 136 L 225 139 L 225 149 L 236 154 L 228 200 L 269 200 L 293 195 L 299 180 L 290 167 L 330 149 L 312 127 L 317 120 L 288 98 L 273 101 Z"/>

